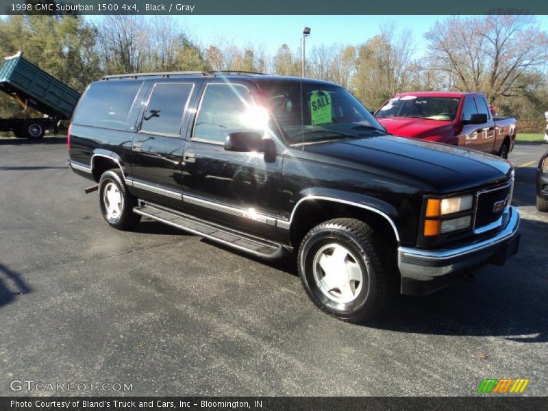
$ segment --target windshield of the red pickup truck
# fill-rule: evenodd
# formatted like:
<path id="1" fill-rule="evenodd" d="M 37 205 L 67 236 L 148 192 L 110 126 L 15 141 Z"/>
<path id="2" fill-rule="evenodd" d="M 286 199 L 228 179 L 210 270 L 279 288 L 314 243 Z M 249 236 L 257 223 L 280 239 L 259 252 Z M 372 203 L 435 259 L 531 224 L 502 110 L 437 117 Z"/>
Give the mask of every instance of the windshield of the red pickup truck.
<path id="1" fill-rule="evenodd" d="M 458 98 L 453 97 L 393 97 L 375 114 L 386 117 L 417 117 L 419 119 L 453 121 L 457 115 Z"/>

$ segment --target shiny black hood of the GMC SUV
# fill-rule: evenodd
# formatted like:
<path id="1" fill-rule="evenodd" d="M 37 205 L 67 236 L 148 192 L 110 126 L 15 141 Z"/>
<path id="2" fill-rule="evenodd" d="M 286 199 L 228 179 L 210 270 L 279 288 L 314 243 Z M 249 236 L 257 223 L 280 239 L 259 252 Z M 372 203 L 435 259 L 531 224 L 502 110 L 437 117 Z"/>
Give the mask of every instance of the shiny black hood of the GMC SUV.
<path id="1" fill-rule="evenodd" d="M 440 194 L 504 182 L 512 165 L 494 155 L 409 138 L 381 136 L 306 146 L 314 158 L 407 181 Z M 323 157 L 325 155 L 325 157 Z"/>

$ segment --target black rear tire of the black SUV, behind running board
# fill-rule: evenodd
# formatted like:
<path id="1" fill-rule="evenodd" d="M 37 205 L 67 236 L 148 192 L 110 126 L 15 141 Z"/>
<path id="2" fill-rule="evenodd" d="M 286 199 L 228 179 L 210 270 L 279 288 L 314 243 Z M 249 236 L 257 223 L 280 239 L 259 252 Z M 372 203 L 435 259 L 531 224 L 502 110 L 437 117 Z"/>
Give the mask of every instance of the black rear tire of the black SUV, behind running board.
<path id="1" fill-rule="evenodd" d="M 110 208 L 107 190 L 109 192 L 112 190 L 113 195 L 116 195 L 116 192 L 119 195 L 117 212 L 113 212 Z M 135 206 L 137 206 L 137 199 L 127 191 L 121 171 L 116 169 L 105 171 L 99 179 L 99 208 L 105 221 L 115 229 L 131 229 L 141 219 L 140 214 L 133 212 Z"/>

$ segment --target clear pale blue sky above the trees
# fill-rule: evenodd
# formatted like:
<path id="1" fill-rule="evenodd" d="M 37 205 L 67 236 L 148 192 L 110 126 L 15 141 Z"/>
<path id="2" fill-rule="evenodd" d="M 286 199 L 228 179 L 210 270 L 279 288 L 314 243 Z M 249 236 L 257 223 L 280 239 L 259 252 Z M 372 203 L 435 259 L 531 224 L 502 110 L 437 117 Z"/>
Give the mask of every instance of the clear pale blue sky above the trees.
<path id="1" fill-rule="evenodd" d="M 99 16 L 87 16 L 97 21 Z M 426 47 L 424 34 L 438 20 L 447 16 L 174 16 L 186 27 L 192 38 L 201 45 L 218 43 L 219 38 L 234 40 L 239 47 L 251 42 L 264 45 L 274 54 L 286 43 L 297 51 L 302 29 L 312 29 L 306 39 L 306 47 L 332 45 L 334 43 L 356 45 L 379 34 L 380 27 L 395 23 L 398 29 L 410 29 L 416 45 L 415 56 L 423 55 Z M 537 16 L 537 21 L 548 31 L 548 16 Z"/>

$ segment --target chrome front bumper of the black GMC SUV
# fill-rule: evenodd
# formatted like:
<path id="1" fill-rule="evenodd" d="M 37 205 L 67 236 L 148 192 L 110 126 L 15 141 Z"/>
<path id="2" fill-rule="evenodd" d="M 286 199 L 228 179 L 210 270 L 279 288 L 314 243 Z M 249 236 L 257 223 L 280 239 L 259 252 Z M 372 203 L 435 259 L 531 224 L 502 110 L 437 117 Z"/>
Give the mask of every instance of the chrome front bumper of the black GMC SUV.
<path id="1" fill-rule="evenodd" d="M 473 244 L 440 251 L 399 247 L 398 266 L 402 278 L 401 292 L 417 294 L 417 292 L 406 290 L 406 284 L 432 282 L 442 276 L 470 271 L 486 264 L 504 264 L 518 249 L 518 210 L 510 207 L 505 220 L 506 225 L 495 236 Z"/>

